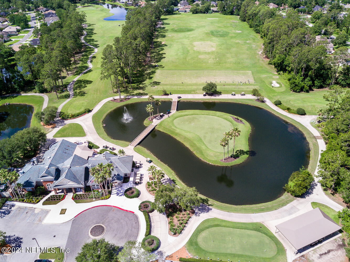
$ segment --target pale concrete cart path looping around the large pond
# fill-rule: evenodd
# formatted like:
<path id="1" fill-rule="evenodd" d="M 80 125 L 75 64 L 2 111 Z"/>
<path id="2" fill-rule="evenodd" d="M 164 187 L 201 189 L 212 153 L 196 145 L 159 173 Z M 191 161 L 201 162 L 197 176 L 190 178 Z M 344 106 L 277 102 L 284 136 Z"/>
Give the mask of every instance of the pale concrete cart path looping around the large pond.
<path id="1" fill-rule="evenodd" d="M 255 97 L 252 95 L 232 96 L 229 94 L 218 95 L 218 96 L 203 96 L 203 95 L 196 95 L 196 94 L 189 94 L 189 95 L 188 94 L 176 94 L 176 95 L 170 95 L 167 98 L 171 98 L 171 99 L 175 100 L 175 99 L 177 99 L 178 95 L 180 95 L 183 99 L 201 99 L 201 100 L 202 99 L 203 100 L 205 100 L 205 99 L 255 99 Z M 137 97 L 140 98 L 140 96 L 137 96 Z M 144 96 L 144 97 L 146 98 L 147 96 Z M 164 96 L 154 96 L 154 97 L 155 98 L 164 98 Z M 120 146 L 114 145 L 114 144 L 100 138 L 98 136 L 94 126 L 93 126 L 93 123 L 92 123 L 92 115 L 94 113 L 96 113 L 102 107 L 103 104 L 105 104 L 107 101 L 109 101 L 111 99 L 112 99 L 112 97 L 102 100 L 100 103 L 98 103 L 96 105 L 96 107 L 92 110 L 91 113 L 86 114 L 86 115 L 79 117 L 77 119 L 71 119 L 68 121 L 64 121 L 64 124 L 78 123 L 78 124 L 83 126 L 83 129 L 86 133 L 86 137 L 84 137 L 84 139 L 90 140 L 99 146 L 102 146 L 103 144 L 107 144 L 107 145 L 113 146 L 113 147 L 117 148 L 117 150 L 119 150 L 121 148 Z M 318 133 L 318 131 L 310 125 L 311 119 L 314 119 L 317 116 L 310 116 L 310 115 L 300 116 L 300 115 L 290 114 L 290 113 L 283 111 L 280 108 L 276 107 L 268 99 L 266 99 L 266 104 L 269 105 L 269 107 L 271 107 L 275 111 L 278 111 L 279 113 L 281 113 L 285 116 L 288 116 L 288 117 L 294 119 L 295 121 L 301 123 L 308 130 L 310 130 L 310 132 L 314 136 L 318 136 L 318 137 L 320 136 L 320 133 Z M 174 114 L 174 113 L 175 112 L 172 112 L 172 114 Z M 158 121 L 161 121 L 161 119 Z M 157 123 L 154 123 L 154 124 L 157 124 Z M 59 128 L 61 128 L 61 127 L 55 128 L 52 132 L 50 132 L 48 134 L 48 137 L 52 138 L 52 136 L 59 130 Z M 59 138 L 59 139 L 62 139 L 62 138 Z M 56 139 L 56 140 L 59 140 L 59 139 Z M 77 141 L 77 140 L 80 140 L 81 138 L 65 138 L 65 139 L 70 140 L 70 141 Z M 321 151 L 325 149 L 324 141 L 322 139 L 317 139 L 317 142 L 318 142 L 320 153 L 321 153 Z M 143 177 L 148 177 L 146 170 L 150 166 L 150 164 L 146 162 L 146 158 L 143 157 L 142 155 L 136 153 L 133 150 L 133 146 L 128 146 L 128 147 L 125 147 L 123 149 L 126 152 L 126 154 L 133 155 L 135 161 L 141 161 L 141 163 L 143 165 L 142 165 L 142 168 L 140 169 L 140 171 L 141 171 Z M 315 174 L 316 173 L 317 173 L 317 169 L 316 169 Z M 166 177 L 165 180 L 170 181 L 170 179 L 168 177 Z M 137 188 L 141 191 L 139 201 L 153 200 L 154 199 L 154 197 L 151 196 L 146 190 L 146 179 L 145 178 L 141 180 L 141 184 L 137 185 Z M 118 199 L 118 202 L 119 201 L 120 201 L 121 205 L 123 205 L 123 203 L 125 203 L 125 201 L 123 199 L 120 199 L 120 200 Z M 303 212 L 307 212 L 308 210 L 310 210 L 310 208 L 311 208 L 310 202 L 320 202 L 320 203 L 323 203 L 323 204 L 330 206 L 331 208 L 333 208 L 334 210 L 337 210 L 337 211 L 342 209 L 342 206 L 333 202 L 331 199 L 329 199 L 324 194 L 320 184 L 315 182 L 314 188 L 312 190 L 310 190 L 310 192 L 307 194 L 306 197 L 297 198 L 292 203 L 289 203 L 288 205 L 283 206 L 282 208 L 280 208 L 278 210 L 271 211 L 271 212 L 264 212 L 264 213 L 257 213 L 257 214 L 255 214 L 255 213 L 253 213 L 253 214 L 239 214 L 239 213 L 224 212 L 221 210 L 212 209 L 212 208 L 205 206 L 205 205 L 201 205 L 199 208 L 196 209 L 195 216 L 189 220 L 189 223 L 186 226 L 186 228 L 184 229 L 183 233 L 176 238 L 168 235 L 168 224 L 167 224 L 167 220 L 166 220 L 165 215 L 159 214 L 155 211 L 155 212 L 151 213 L 151 221 L 153 222 L 152 223 L 152 232 L 153 232 L 152 234 L 154 234 L 155 236 L 157 236 L 160 239 L 161 252 L 163 252 L 164 255 L 171 254 L 171 253 L 175 252 L 176 250 L 178 250 L 179 248 L 181 248 L 184 244 L 186 244 L 186 242 L 190 238 L 191 234 L 194 232 L 194 230 L 197 228 L 197 226 L 204 219 L 216 217 L 216 218 L 220 218 L 220 219 L 224 219 L 224 220 L 238 221 L 238 222 L 262 222 L 262 223 L 268 225 L 270 230 L 272 232 L 274 232 L 273 227 L 275 225 L 281 223 L 282 221 L 288 220 L 292 217 L 295 217 Z M 96 202 L 89 203 L 89 204 L 93 205 L 95 203 Z M 118 205 L 118 206 L 120 206 L 120 205 Z M 77 212 L 77 211 L 74 211 L 74 212 Z M 51 216 L 48 216 L 48 217 L 50 218 Z M 49 220 L 47 220 L 47 221 L 49 221 Z M 290 247 L 290 245 L 288 246 L 288 242 L 286 242 L 286 240 L 284 239 L 284 237 L 281 234 L 277 233 L 276 237 L 286 247 L 288 262 L 292 261 L 293 257 L 295 257 L 294 249 L 292 247 Z"/>

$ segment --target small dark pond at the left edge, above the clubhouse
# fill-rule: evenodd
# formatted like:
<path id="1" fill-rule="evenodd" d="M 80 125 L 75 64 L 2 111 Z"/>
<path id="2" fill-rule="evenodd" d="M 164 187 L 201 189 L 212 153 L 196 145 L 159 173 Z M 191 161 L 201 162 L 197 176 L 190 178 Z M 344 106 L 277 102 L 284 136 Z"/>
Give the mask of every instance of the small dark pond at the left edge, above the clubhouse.
<path id="1" fill-rule="evenodd" d="M 29 128 L 34 108 L 28 104 L 0 106 L 0 139 L 12 136 L 19 130 Z"/>

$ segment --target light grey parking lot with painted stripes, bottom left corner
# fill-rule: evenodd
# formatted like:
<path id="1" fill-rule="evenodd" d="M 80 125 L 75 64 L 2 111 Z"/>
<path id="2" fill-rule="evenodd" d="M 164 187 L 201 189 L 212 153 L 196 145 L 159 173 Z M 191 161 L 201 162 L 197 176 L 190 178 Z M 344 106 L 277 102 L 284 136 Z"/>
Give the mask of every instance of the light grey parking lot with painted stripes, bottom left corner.
<path id="1" fill-rule="evenodd" d="M 6 242 L 18 252 L 0 255 L 0 261 L 32 262 L 38 258 L 39 249 L 59 246 L 64 248 L 68 239 L 71 221 L 64 224 L 42 224 L 48 210 L 26 208 L 7 202 L 0 210 L 0 230 L 6 232 Z M 38 242 L 38 245 L 35 240 Z"/>

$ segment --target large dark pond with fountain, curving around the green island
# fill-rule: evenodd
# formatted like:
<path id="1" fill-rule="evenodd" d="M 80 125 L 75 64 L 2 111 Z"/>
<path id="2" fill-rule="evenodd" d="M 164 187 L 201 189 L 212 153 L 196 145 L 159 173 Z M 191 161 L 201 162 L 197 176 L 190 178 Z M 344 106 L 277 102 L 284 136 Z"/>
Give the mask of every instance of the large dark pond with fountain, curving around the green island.
<path id="1" fill-rule="evenodd" d="M 132 141 L 145 128 L 148 103 L 126 105 L 134 117 L 129 123 L 122 121 L 124 107 L 113 110 L 104 119 L 106 133 L 114 139 Z M 170 109 L 170 105 L 162 102 L 160 112 Z M 310 150 L 303 133 L 267 110 L 228 102 L 178 103 L 177 110 L 191 109 L 221 111 L 248 121 L 252 131 L 247 160 L 230 167 L 210 165 L 181 142 L 158 130 L 152 131 L 140 145 L 166 163 L 189 187 L 196 187 L 209 198 L 233 205 L 273 201 L 285 192 L 283 185 L 290 174 L 308 166 Z"/>

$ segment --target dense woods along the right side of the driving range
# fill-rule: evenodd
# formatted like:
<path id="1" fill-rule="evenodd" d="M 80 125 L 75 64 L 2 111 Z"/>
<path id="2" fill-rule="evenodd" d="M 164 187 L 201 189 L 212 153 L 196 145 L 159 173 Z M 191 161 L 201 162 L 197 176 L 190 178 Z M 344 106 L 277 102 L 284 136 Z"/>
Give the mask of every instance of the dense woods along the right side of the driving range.
<path id="1" fill-rule="evenodd" d="M 349 59 L 348 49 L 340 47 L 333 56 L 328 56 L 327 41 L 316 41 L 316 35 L 321 35 L 322 28 L 325 28 L 326 33 L 334 32 L 329 29 L 335 28 L 335 25 L 329 24 L 332 20 L 334 22 L 331 23 L 338 23 L 343 30 L 341 39 L 346 38 L 348 19 L 340 22 L 331 14 L 324 15 L 329 17 L 329 21 L 322 23 L 322 27 L 306 27 L 296 10 L 289 11 L 282 17 L 277 8 L 269 8 L 265 3 L 256 5 L 253 0 L 245 0 L 239 13 L 240 20 L 247 22 L 264 39 L 265 56 L 278 72 L 286 75 L 290 89 L 294 92 L 308 92 L 313 88 L 329 87 L 336 83 L 349 87 L 347 81 L 342 81 L 349 78 L 349 70 L 345 65 Z M 345 26 L 342 27 L 344 23 Z"/>

